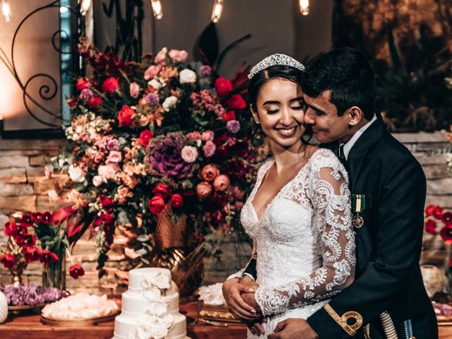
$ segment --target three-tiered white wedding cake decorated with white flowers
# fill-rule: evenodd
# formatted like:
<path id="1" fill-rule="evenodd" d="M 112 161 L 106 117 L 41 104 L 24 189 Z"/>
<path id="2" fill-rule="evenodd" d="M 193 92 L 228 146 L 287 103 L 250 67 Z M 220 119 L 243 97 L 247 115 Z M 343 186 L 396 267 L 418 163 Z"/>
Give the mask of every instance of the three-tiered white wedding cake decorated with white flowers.
<path id="1" fill-rule="evenodd" d="M 179 313 L 179 293 L 166 268 L 129 272 L 121 314 L 114 319 L 114 339 L 189 339 Z"/>

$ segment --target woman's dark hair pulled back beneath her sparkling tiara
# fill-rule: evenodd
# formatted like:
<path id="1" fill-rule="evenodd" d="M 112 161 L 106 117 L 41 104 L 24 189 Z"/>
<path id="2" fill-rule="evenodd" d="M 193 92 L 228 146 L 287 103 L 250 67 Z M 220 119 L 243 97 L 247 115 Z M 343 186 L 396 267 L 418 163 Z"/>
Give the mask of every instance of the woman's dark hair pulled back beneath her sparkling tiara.
<path id="1" fill-rule="evenodd" d="M 300 87 L 302 87 L 302 78 L 304 76 L 304 72 L 299 69 L 295 69 L 295 67 L 285 66 L 285 65 L 276 65 L 268 67 L 268 69 L 264 69 L 263 71 L 258 72 L 251 80 L 248 85 L 248 102 L 251 107 L 253 107 L 254 112 L 257 112 L 256 101 L 259 91 L 262 86 L 271 79 L 285 79 L 288 81 L 292 81 L 292 83 L 296 83 Z M 262 133 L 261 128 L 257 125 L 256 129 L 254 129 L 253 136 L 251 141 L 254 145 L 256 143 L 256 138 L 262 137 L 259 136 L 259 133 Z M 302 142 L 307 143 L 311 138 L 311 131 L 305 131 L 303 133 Z"/>

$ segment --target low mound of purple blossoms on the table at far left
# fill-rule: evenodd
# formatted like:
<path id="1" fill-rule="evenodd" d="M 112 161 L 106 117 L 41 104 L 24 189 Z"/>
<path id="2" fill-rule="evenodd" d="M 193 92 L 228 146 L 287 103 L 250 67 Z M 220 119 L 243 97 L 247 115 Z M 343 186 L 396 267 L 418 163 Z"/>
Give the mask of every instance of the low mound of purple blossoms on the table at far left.
<path id="1" fill-rule="evenodd" d="M 6 301 L 10 306 L 33 306 L 47 302 L 56 302 L 66 297 L 66 292 L 55 287 L 43 287 L 35 284 L 0 286 L 0 292 L 5 295 Z"/>

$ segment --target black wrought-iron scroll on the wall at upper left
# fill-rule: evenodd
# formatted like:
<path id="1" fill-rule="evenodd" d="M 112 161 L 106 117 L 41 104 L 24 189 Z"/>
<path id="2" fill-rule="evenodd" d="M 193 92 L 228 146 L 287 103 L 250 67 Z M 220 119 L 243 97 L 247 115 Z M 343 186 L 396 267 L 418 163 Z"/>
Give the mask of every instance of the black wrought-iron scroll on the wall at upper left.
<path id="1" fill-rule="evenodd" d="M 83 18 L 81 18 L 80 16 L 80 10 L 78 8 L 78 5 L 76 7 L 75 10 L 73 10 L 70 6 L 61 6 L 60 1 L 52 1 L 51 3 L 44 5 L 42 7 L 36 8 L 34 11 L 30 12 L 27 16 L 25 16 L 25 18 L 23 18 L 22 21 L 20 21 L 18 27 L 16 28 L 16 31 L 14 32 L 13 35 L 13 41 L 11 42 L 11 59 L 8 59 L 8 56 L 6 55 L 6 53 L 4 52 L 3 49 L 0 49 L 0 61 L 5 64 L 6 68 L 8 69 L 8 71 L 11 72 L 11 74 L 13 75 L 13 77 L 16 79 L 18 85 L 20 86 L 20 88 L 23 91 L 23 103 L 25 105 L 25 109 L 27 109 L 28 114 L 30 114 L 30 116 L 35 119 L 36 121 L 39 121 L 41 124 L 44 124 L 46 126 L 52 127 L 52 128 L 60 128 L 61 127 L 61 123 L 59 124 L 52 124 L 49 123 L 47 121 L 44 121 L 41 117 L 38 117 L 37 112 L 33 112 L 32 107 L 30 107 L 30 102 L 32 102 L 35 107 L 37 107 L 37 109 L 40 109 L 42 112 L 44 112 L 44 114 L 47 114 L 47 116 L 52 117 L 54 119 L 58 119 L 59 121 L 63 120 L 62 117 L 62 112 L 52 112 L 49 109 L 47 109 L 47 107 L 45 107 L 42 103 L 40 103 L 40 101 L 49 101 L 52 100 L 58 93 L 58 82 L 57 80 L 53 77 L 50 76 L 47 73 L 37 73 L 33 76 L 30 76 L 30 78 L 28 78 L 27 81 L 23 81 L 20 76 L 19 73 L 16 69 L 16 64 L 15 64 L 15 60 L 14 60 L 14 47 L 16 45 L 16 38 L 18 36 L 18 32 L 20 31 L 20 28 L 23 27 L 23 24 L 27 22 L 27 20 L 29 18 L 31 18 L 32 16 L 35 16 L 35 14 L 40 13 L 42 11 L 51 9 L 51 8 L 57 8 L 59 10 L 59 8 L 61 7 L 66 7 L 69 11 L 71 11 L 71 13 L 73 13 L 73 15 L 77 18 L 77 25 L 79 26 L 76 30 L 76 34 L 74 35 L 74 39 L 77 39 L 78 34 L 81 34 L 83 32 L 83 28 L 84 28 L 84 23 L 83 23 Z M 61 37 L 61 34 L 65 33 L 66 35 L 68 34 L 67 32 L 65 32 L 64 30 L 57 30 L 57 32 L 54 32 L 54 34 L 52 35 L 52 47 L 59 53 L 59 54 L 63 54 L 64 52 L 61 51 L 61 49 L 59 49 L 58 44 L 55 42 L 55 40 L 57 40 L 57 37 Z M 32 83 L 32 81 L 34 81 L 35 79 L 40 78 L 42 79 L 43 84 L 40 86 L 38 93 L 39 97 L 37 97 L 37 95 L 32 95 L 30 93 L 30 91 L 28 90 L 28 87 L 30 85 L 30 83 Z M 45 81 L 45 83 L 44 83 Z"/>

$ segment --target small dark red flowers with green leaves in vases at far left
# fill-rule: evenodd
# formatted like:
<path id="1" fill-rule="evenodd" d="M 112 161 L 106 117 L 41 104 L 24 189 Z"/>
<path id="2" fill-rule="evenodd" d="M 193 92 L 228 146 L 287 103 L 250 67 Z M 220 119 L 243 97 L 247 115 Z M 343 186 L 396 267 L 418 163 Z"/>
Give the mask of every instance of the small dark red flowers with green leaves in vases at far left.
<path id="1" fill-rule="evenodd" d="M 49 212 L 25 214 L 17 224 L 6 222 L 4 233 L 9 237 L 9 243 L 8 249 L 4 250 L 4 255 L 0 258 L 0 263 L 11 270 L 11 273 L 18 274 L 22 273 L 32 261 L 40 261 L 47 268 L 61 268 L 64 255 L 66 252 L 69 253 L 69 241 L 66 230 L 62 227 L 66 218 L 61 219 L 61 210 L 57 210 L 53 214 Z M 40 241 L 42 251 L 37 249 L 37 239 Z M 84 271 L 80 265 L 73 265 L 69 273 L 73 278 L 78 278 Z"/>

